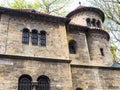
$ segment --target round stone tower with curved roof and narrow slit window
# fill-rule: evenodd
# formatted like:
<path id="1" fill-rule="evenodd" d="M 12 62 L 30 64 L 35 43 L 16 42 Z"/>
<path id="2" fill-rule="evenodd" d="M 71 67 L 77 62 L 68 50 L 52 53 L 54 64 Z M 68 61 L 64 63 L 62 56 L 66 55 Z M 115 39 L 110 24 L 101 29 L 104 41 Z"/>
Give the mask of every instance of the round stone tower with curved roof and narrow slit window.
<path id="1" fill-rule="evenodd" d="M 86 39 L 90 56 L 90 64 L 95 66 L 111 66 L 112 55 L 109 47 L 109 34 L 103 28 L 104 13 L 94 7 L 79 6 L 67 15 L 69 24 L 86 27 Z"/>

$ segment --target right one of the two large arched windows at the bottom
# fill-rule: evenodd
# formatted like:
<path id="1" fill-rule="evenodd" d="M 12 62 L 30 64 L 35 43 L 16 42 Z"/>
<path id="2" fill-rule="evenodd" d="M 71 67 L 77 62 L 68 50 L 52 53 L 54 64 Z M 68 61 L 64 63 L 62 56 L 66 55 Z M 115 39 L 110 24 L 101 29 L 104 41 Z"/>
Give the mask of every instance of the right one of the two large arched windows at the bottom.
<path id="1" fill-rule="evenodd" d="M 40 76 L 37 81 L 38 86 L 36 90 L 50 90 L 50 80 L 47 76 Z"/>

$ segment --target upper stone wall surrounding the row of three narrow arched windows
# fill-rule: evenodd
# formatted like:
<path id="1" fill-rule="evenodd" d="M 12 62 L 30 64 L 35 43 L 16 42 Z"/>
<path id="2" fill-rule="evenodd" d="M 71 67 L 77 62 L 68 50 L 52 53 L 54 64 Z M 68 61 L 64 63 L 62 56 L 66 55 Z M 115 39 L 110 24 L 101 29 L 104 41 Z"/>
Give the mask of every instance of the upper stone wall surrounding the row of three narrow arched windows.
<path id="1" fill-rule="evenodd" d="M 47 32 L 46 47 L 22 44 L 22 30 L 28 28 Z M 64 23 L 55 23 L 27 16 L 2 15 L 0 23 L 0 53 L 46 58 L 69 59 Z"/>

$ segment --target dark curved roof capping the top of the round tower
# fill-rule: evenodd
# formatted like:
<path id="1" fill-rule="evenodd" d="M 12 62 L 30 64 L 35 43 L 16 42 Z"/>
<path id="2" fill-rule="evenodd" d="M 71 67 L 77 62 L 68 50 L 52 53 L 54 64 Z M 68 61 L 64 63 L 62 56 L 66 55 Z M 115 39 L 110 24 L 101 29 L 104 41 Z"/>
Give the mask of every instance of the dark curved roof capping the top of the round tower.
<path id="1" fill-rule="evenodd" d="M 71 16 L 84 11 L 96 12 L 101 16 L 103 22 L 105 20 L 105 15 L 102 10 L 95 7 L 88 7 L 88 6 L 81 6 L 81 5 L 78 6 L 75 10 L 71 11 L 66 17 L 70 18 Z"/>

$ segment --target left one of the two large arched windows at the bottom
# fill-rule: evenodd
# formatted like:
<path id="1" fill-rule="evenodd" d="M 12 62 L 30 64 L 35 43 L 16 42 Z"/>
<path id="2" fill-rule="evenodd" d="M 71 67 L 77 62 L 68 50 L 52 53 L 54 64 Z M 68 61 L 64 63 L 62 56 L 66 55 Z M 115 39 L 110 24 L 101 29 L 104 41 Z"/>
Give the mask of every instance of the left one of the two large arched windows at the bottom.
<path id="1" fill-rule="evenodd" d="M 18 90 L 32 90 L 32 78 L 29 75 L 22 75 L 19 78 Z"/>

